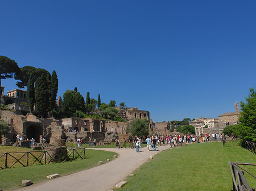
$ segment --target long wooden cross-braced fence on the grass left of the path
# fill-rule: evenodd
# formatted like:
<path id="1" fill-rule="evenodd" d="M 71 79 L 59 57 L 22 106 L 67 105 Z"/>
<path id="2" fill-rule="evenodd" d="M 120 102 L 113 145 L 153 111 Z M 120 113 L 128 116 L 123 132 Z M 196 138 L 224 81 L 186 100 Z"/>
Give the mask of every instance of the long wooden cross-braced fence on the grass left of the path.
<path id="1" fill-rule="evenodd" d="M 0 154 L 0 169 L 14 166 L 27 167 L 34 164 L 49 164 L 67 160 L 85 159 L 85 148 L 67 148 L 63 150 L 44 150 L 26 152 L 5 152 Z"/>

